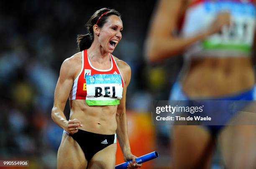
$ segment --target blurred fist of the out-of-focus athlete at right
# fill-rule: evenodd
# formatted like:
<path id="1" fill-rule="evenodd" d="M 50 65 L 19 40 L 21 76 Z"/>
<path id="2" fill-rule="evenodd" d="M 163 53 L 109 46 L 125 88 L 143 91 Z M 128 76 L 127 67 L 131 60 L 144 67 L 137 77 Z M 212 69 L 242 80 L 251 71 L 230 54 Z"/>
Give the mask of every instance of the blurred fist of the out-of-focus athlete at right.
<path id="1" fill-rule="evenodd" d="M 212 35 L 214 33 L 219 32 L 224 25 L 229 26 L 230 25 L 230 12 L 223 11 L 218 13 L 218 15 L 215 18 L 215 21 L 210 25 L 208 35 Z"/>

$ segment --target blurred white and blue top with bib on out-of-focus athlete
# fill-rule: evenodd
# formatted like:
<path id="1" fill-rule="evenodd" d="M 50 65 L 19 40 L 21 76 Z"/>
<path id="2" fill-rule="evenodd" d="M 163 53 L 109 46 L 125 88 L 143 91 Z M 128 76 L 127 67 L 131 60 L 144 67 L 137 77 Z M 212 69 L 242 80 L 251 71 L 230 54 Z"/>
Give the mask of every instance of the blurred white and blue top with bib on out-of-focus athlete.
<path id="1" fill-rule="evenodd" d="M 184 16 L 181 34 L 189 37 L 207 29 L 218 13 L 228 11 L 231 25 L 204 40 L 195 42 L 187 56 L 234 57 L 249 56 L 256 27 L 256 7 L 253 0 L 196 0 Z"/>

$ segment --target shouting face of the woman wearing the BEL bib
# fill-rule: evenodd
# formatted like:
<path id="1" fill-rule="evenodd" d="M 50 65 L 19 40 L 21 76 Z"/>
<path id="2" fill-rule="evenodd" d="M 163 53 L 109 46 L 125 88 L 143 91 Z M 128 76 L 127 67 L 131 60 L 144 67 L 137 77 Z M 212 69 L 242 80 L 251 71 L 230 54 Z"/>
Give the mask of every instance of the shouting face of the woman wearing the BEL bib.
<path id="1" fill-rule="evenodd" d="M 100 29 L 99 42 L 103 50 L 112 53 L 122 39 L 123 22 L 120 17 L 110 15 Z"/>

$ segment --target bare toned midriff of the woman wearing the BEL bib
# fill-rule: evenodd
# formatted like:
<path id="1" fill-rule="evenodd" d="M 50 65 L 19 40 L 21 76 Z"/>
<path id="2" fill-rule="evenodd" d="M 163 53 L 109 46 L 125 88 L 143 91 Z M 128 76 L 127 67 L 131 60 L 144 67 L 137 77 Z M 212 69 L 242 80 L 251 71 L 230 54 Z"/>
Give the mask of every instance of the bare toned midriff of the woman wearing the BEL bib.
<path id="1" fill-rule="evenodd" d="M 88 106 L 85 100 L 70 100 L 70 119 L 78 119 L 79 129 L 97 134 L 115 134 L 117 123 L 115 106 Z"/>

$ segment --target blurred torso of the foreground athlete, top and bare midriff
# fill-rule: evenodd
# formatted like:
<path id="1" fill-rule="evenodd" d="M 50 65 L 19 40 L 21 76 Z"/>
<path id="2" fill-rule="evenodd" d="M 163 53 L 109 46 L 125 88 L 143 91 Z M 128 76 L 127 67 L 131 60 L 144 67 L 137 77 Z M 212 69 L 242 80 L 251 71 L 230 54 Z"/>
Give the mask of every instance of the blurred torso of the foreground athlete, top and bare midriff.
<path id="1" fill-rule="evenodd" d="M 211 26 L 220 12 L 229 12 L 230 26 L 195 42 L 185 52 L 189 69 L 182 81 L 191 98 L 222 97 L 250 89 L 255 77 L 251 54 L 256 8 L 251 0 L 190 0 L 181 35 L 189 37 Z"/>

